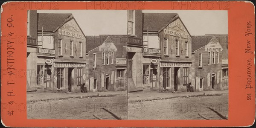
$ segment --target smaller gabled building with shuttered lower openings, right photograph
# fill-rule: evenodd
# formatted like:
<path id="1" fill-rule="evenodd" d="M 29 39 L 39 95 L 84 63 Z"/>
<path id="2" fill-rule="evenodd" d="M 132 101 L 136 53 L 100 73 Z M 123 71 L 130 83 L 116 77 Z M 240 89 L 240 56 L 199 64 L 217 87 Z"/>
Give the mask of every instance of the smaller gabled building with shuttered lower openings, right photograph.
<path id="1" fill-rule="evenodd" d="M 222 90 L 222 50 L 214 35 L 192 37 L 192 86 L 195 91 Z"/>

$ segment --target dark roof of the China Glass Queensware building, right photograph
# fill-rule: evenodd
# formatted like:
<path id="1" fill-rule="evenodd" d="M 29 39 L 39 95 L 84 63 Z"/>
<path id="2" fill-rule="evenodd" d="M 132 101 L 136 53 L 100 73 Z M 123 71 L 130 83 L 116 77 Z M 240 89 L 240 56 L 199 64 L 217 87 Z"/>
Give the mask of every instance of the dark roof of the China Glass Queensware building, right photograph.
<path id="1" fill-rule="evenodd" d="M 166 26 L 177 13 L 143 13 L 143 29 L 158 32 Z"/>

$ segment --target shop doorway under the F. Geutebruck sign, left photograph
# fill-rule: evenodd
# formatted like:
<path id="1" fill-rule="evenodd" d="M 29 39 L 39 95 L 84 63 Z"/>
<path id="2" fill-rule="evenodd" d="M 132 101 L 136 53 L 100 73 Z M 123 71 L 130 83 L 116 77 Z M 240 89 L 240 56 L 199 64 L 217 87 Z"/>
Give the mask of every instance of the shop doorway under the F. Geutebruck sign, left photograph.
<path id="1" fill-rule="evenodd" d="M 44 90 L 52 90 L 52 85 L 51 85 L 52 66 L 45 65 L 44 67 L 45 67 L 44 68 Z"/>

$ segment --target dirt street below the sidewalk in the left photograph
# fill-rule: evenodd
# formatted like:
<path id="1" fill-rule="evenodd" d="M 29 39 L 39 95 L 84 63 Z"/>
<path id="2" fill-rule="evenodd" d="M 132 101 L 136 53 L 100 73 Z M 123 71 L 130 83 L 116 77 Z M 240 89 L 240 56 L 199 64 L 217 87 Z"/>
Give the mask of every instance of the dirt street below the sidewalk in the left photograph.
<path id="1" fill-rule="evenodd" d="M 127 119 L 127 95 L 27 103 L 28 119 Z"/>

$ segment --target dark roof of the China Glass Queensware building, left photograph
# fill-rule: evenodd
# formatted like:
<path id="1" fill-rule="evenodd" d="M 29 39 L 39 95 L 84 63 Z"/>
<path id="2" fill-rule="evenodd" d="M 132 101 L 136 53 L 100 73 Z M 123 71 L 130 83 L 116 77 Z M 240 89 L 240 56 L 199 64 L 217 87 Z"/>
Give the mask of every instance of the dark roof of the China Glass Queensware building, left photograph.
<path id="1" fill-rule="evenodd" d="M 44 32 L 53 32 L 58 26 L 63 24 L 71 13 L 38 13 L 38 29 L 43 26 Z"/>

